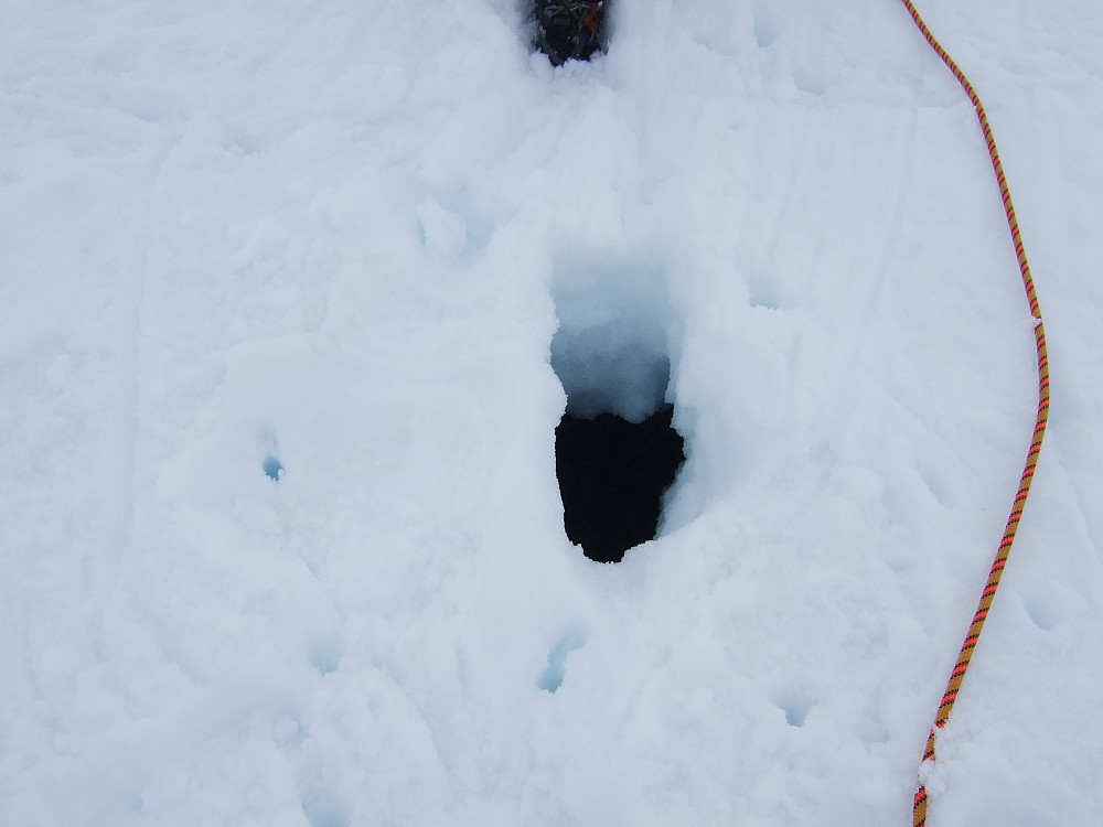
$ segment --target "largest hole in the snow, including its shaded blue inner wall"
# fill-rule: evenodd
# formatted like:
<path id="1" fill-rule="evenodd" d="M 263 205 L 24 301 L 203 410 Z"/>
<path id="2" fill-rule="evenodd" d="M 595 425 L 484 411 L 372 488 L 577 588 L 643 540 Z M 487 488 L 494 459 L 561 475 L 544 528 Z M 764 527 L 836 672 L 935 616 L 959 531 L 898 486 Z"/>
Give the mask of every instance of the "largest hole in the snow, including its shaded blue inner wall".
<path id="1" fill-rule="evenodd" d="M 666 401 L 671 311 L 654 271 L 560 281 L 552 367 L 567 393 L 555 448 L 564 527 L 591 560 L 619 562 L 657 536 L 685 460 Z"/>

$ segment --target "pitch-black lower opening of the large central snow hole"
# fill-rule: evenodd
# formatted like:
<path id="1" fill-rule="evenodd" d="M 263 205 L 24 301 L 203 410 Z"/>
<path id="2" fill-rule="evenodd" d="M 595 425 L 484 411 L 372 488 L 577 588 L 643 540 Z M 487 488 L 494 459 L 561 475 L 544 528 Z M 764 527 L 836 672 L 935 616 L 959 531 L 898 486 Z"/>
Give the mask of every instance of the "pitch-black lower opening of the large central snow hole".
<path id="1" fill-rule="evenodd" d="M 639 423 L 614 414 L 565 414 L 559 421 L 564 527 L 591 560 L 620 562 L 628 549 L 655 538 L 663 492 L 685 460 L 673 418 L 674 406 L 664 405 Z"/>

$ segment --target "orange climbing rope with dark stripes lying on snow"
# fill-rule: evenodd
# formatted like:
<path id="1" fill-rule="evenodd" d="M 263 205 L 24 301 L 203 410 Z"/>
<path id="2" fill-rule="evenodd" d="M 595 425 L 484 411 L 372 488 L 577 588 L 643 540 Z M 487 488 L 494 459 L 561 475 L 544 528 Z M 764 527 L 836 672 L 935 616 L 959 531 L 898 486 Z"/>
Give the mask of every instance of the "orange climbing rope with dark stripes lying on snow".
<path id="1" fill-rule="evenodd" d="M 984 621 L 988 616 L 993 598 L 996 597 L 999 578 L 1003 576 L 1004 567 L 1007 565 L 1007 556 L 1010 554 L 1011 544 L 1015 541 L 1015 533 L 1018 530 L 1019 520 L 1022 518 L 1022 508 L 1026 506 L 1027 495 L 1030 493 L 1030 483 L 1034 480 L 1035 468 L 1038 464 L 1038 454 L 1041 451 L 1042 437 L 1046 434 L 1046 422 L 1049 418 L 1049 357 L 1046 353 L 1046 327 L 1042 325 L 1041 310 L 1038 308 L 1038 296 L 1035 293 L 1034 279 L 1030 277 L 1030 265 L 1027 262 L 1026 249 L 1022 246 L 1019 223 L 1015 217 L 1011 193 L 1007 189 L 1004 165 L 999 162 L 999 152 L 996 151 L 996 139 L 992 135 L 992 127 L 988 125 L 988 117 L 981 105 L 981 98 L 973 88 L 973 84 L 968 82 L 968 78 L 965 77 L 965 74 L 957 67 L 953 58 L 946 54 L 946 50 L 931 34 L 931 30 L 927 28 L 927 23 L 923 22 L 911 0 L 901 1 L 908 8 L 912 20 L 915 21 L 915 25 L 919 26 L 923 36 L 927 37 L 927 42 L 931 44 L 931 47 L 942 58 L 942 62 L 946 64 L 946 67 L 957 78 L 957 83 L 961 84 L 962 89 L 965 90 L 970 101 L 976 108 L 976 117 L 981 121 L 981 130 L 988 144 L 992 169 L 996 174 L 996 183 L 999 184 L 999 193 L 1004 200 L 1004 210 L 1007 213 L 1007 226 L 1011 230 L 1011 241 L 1015 244 L 1015 254 L 1019 259 L 1019 272 L 1022 276 L 1022 286 L 1026 288 L 1027 300 L 1030 302 L 1030 312 L 1034 314 L 1035 345 L 1038 353 L 1038 416 L 1035 421 L 1034 439 L 1030 442 L 1030 450 L 1027 453 L 1022 476 L 1019 479 L 1019 491 L 1015 495 L 1015 503 L 1011 505 L 1011 513 L 1007 518 L 1007 526 L 1004 528 L 1004 537 L 999 541 L 999 547 L 996 550 L 996 559 L 992 563 L 992 570 L 988 572 L 988 582 L 985 584 L 984 591 L 981 592 L 981 602 L 976 608 L 976 613 L 973 615 L 973 623 L 970 624 L 965 642 L 962 643 L 961 652 L 957 655 L 957 664 L 954 666 L 953 672 L 950 673 L 946 691 L 942 696 L 942 704 L 939 705 L 939 711 L 934 716 L 934 726 L 931 727 L 931 734 L 927 739 L 927 750 L 923 753 L 923 766 L 927 767 L 929 766 L 928 762 L 934 761 L 935 734 L 950 720 L 950 712 L 954 708 L 954 701 L 957 700 L 957 694 L 961 691 L 962 681 L 965 679 L 965 672 L 968 669 L 973 651 L 976 648 L 977 641 L 981 640 Z M 923 783 L 923 773 L 921 772 L 919 788 L 915 792 L 915 801 L 912 809 L 914 827 L 925 827 L 927 804 L 927 786 Z"/>

